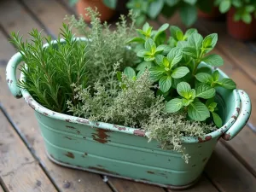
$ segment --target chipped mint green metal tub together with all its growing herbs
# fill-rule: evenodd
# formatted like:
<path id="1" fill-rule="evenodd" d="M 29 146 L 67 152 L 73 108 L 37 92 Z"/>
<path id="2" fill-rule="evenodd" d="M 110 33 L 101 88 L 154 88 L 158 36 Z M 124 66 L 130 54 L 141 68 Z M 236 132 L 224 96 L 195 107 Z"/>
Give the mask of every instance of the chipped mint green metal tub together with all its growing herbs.
<path id="1" fill-rule="evenodd" d="M 191 186 L 219 137 L 235 137 L 251 112 L 247 94 L 213 68 L 224 64 L 208 54 L 217 34 L 171 26 L 167 38 L 169 24 L 153 30 L 146 23 L 136 35 L 133 16 L 131 25 L 121 16 L 112 32 L 87 11 L 91 28 L 71 18 L 86 38 L 66 25 L 55 41 L 37 30 L 32 43 L 12 34 L 19 53 L 8 63 L 7 83 L 35 110 L 49 159 L 167 188 Z"/>

